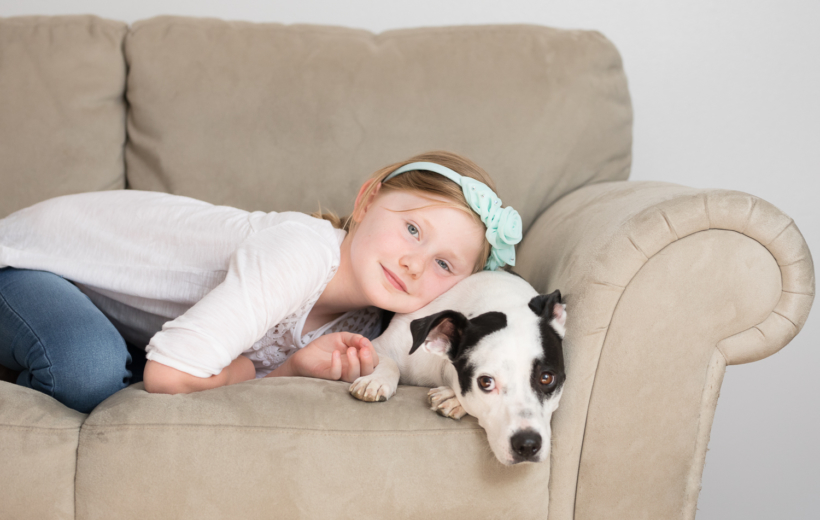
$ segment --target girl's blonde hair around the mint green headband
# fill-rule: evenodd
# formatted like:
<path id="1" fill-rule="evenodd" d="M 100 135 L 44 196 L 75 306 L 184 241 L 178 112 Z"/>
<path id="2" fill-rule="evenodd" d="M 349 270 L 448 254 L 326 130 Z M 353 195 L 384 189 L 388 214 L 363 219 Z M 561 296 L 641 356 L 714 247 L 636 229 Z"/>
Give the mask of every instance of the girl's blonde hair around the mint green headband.
<path id="1" fill-rule="evenodd" d="M 492 178 L 485 172 L 480 166 L 478 166 L 473 161 L 467 159 L 466 157 L 462 157 L 453 152 L 445 152 L 445 151 L 432 151 L 426 152 L 414 157 L 411 157 L 405 161 L 401 161 L 395 164 L 391 164 L 389 166 L 385 166 L 384 168 L 377 170 L 371 177 L 370 177 L 370 184 L 365 189 L 364 193 L 362 194 L 360 201 L 367 201 L 370 198 L 370 195 L 373 193 L 373 190 L 381 184 L 381 192 L 382 193 L 389 193 L 391 191 L 414 191 L 421 194 L 429 194 L 438 197 L 445 198 L 451 201 L 450 204 L 444 204 L 447 207 L 452 207 L 461 211 L 464 211 L 470 217 L 477 222 L 482 228 L 484 224 L 481 222 L 478 214 L 473 211 L 470 205 L 467 203 L 467 199 L 464 198 L 464 193 L 461 191 L 461 186 L 456 184 L 455 182 L 447 179 L 446 177 L 439 175 L 438 173 L 428 172 L 424 170 L 412 170 L 401 175 L 397 175 L 393 177 L 387 182 L 383 182 L 384 179 L 393 173 L 395 170 L 401 168 L 406 164 L 410 164 L 413 162 L 432 162 L 436 164 L 440 164 L 442 166 L 446 166 L 451 170 L 459 173 L 463 177 L 470 177 L 477 181 L 481 181 L 487 186 L 489 186 L 493 191 L 498 193 L 495 188 L 495 183 L 493 182 Z M 354 208 L 355 212 L 356 208 Z M 339 229 L 344 229 L 345 231 L 354 232 L 356 228 L 356 222 L 352 220 L 352 213 L 347 217 L 339 217 L 333 212 L 322 212 L 321 208 L 318 212 L 313 214 L 316 218 L 322 218 L 325 220 L 330 221 L 334 227 Z M 484 240 L 484 247 L 482 249 L 481 255 L 479 259 L 476 261 L 475 266 L 473 267 L 473 272 L 478 272 L 484 269 L 484 264 L 487 263 L 487 258 L 490 256 L 490 251 L 492 250 L 492 246 L 489 242 Z"/>

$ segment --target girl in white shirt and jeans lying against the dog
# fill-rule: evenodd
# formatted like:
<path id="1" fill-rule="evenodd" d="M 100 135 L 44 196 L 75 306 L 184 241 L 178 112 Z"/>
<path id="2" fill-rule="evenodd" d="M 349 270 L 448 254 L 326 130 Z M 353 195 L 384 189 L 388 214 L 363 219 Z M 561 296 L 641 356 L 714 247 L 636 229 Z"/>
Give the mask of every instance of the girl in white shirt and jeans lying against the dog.
<path id="1" fill-rule="evenodd" d="M 344 224 L 132 190 L 36 204 L 0 220 L 0 365 L 86 413 L 139 380 L 129 344 L 149 392 L 352 382 L 378 364 L 378 309 L 514 264 L 521 220 L 493 190 L 431 152 L 377 171 Z"/>

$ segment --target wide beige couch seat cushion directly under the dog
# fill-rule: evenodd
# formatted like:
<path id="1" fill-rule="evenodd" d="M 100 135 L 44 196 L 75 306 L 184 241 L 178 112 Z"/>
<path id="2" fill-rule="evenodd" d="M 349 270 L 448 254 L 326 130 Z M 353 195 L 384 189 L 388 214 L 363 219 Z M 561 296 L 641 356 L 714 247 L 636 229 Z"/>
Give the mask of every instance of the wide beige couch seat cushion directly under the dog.
<path id="1" fill-rule="evenodd" d="M 304 378 L 190 395 L 131 386 L 80 439 L 77 515 L 119 518 L 530 518 L 547 510 L 548 464 L 502 466 L 471 417 L 386 403 Z"/>

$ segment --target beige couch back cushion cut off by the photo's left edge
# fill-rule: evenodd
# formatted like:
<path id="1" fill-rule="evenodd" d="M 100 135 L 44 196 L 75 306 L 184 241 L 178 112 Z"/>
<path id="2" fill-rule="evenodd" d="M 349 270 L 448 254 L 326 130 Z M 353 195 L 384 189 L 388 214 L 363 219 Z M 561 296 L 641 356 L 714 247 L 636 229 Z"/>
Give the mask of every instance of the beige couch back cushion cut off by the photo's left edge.
<path id="1" fill-rule="evenodd" d="M 125 187 L 127 29 L 93 16 L 0 18 L 0 218 Z"/>

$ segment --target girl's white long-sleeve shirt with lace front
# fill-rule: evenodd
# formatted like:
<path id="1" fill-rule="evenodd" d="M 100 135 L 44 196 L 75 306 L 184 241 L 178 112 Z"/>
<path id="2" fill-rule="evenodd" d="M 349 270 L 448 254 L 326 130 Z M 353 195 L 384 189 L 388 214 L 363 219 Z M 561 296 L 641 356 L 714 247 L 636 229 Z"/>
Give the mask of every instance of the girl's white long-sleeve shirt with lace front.
<path id="1" fill-rule="evenodd" d="M 303 213 L 249 213 L 165 193 L 94 192 L 0 220 L 0 267 L 72 281 L 127 341 L 147 343 L 148 359 L 208 377 L 245 354 L 261 377 L 319 335 L 378 334 L 374 308 L 302 333 L 339 267 L 344 237 Z"/>

